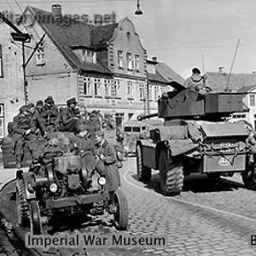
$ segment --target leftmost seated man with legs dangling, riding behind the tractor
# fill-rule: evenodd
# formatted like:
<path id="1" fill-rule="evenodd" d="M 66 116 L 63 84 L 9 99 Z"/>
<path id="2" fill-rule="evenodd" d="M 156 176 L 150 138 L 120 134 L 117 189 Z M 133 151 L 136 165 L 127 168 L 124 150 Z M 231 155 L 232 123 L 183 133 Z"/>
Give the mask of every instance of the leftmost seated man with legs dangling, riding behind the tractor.
<path id="1" fill-rule="evenodd" d="M 30 153 L 33 158 L 33 150 L 37 148 L 36 137 L 32 133 L 35 131 L 34 123 L 32 122 L 31 113 L 29 113 L 26 106 L 20 108 L 20 113 L 15 116 L 13 121 L 14 135 L 13 135 L 13 149 L 16 157 L 16 167 L 20 168 L 24 158 L 24 147 L 27 143 Z"/>

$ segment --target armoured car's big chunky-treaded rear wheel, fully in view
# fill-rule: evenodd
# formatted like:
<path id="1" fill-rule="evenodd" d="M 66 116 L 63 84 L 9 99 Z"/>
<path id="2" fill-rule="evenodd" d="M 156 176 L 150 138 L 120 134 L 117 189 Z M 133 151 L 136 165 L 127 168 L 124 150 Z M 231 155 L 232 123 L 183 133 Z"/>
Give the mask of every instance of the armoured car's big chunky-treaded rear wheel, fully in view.
<path id="1" fill-rule="evenodd" d="M 179 195 L 183 189 L 183 166 L 169 162 L 168 151 L 160 152 L 160 189 L 163 195 Z"/>

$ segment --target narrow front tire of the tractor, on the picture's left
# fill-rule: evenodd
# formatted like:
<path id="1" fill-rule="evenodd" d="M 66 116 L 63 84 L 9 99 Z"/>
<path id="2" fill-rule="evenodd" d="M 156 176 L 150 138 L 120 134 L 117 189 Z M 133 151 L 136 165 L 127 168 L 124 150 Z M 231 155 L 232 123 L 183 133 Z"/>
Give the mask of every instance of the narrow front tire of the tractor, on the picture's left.
<path id="1" fill-rule="evenodd" d="M 33 235 L 42 234 L 41 214 L 37 201 L 30 202 L 30 227 Z"/>

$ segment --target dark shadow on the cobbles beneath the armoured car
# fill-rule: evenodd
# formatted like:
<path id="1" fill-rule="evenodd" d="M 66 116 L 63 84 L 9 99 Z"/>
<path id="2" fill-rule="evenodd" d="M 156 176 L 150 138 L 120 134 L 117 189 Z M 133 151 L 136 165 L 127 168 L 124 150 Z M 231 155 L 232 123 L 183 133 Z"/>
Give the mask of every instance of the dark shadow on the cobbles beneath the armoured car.
<path id="1" fill-rule="evenodd" d="M 131 176 L 137 180 L 137 175 Z M 160 176 L 159 174 L 152 174 L 151 181 L 145 182 L 146 188 L 152 189 L 161 194 Z M 244 188 L 242 183 L 230 181 L 225 178 L 209 178 L 206 175 L 193 174 L 185 177 L 183 181 L 183 191 L 191 191 L 193 193 L 209 193 L 220 191 L 233 191 L 235 189 Z"/>

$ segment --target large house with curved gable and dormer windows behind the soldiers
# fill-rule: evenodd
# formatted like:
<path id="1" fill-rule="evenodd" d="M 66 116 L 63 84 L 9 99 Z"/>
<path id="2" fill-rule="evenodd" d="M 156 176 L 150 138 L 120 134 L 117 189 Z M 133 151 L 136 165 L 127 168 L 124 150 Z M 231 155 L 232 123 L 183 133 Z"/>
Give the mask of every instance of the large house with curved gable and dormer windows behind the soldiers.
<path id="1" fill-rule="evenodd" d="M 44 37 L 26 68 L 31 102 L 51 95 L 57 105 L 64 106 L 74 96 L 81 110 L 101 110 L 121 125 L 139 114 L 156 112 L 160 93 L 168 88 L 173 74 L 183 83 L 170 67 L 172 73 L 166 79 L 158 70 L 161 63 L 147 60 L 147 51 L 128 18 L 108 25 L 71 20 L 65 26 L 55 21 L 55 15 L 61 14 L 59 5 L 51 13 L 27 7 L 24 17 L 38 14 L 52 15 L 53 20 L 20 22 L 32 35 L 32 48 Z M 31 52 L 27 49 L 26 55 Z"/>

